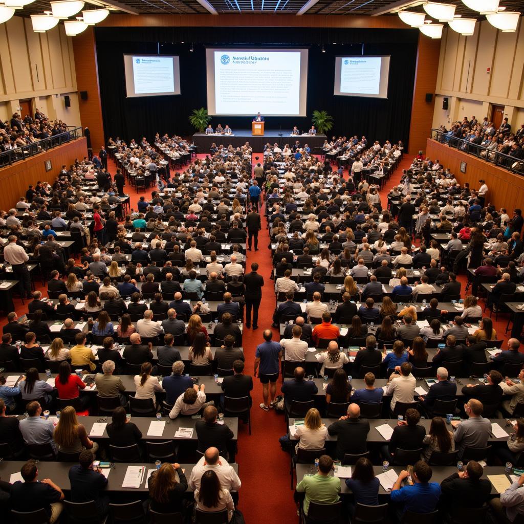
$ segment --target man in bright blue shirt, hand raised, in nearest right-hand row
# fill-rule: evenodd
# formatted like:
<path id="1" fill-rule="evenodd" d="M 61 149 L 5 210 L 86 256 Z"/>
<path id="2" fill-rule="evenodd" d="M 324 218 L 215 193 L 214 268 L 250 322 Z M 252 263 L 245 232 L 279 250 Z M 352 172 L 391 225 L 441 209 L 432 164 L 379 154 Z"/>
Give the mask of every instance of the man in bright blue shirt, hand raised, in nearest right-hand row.
<path id="1" fill-rule="evenodd" d="M 434 511 L 440 498 L 440 484 L 429 482 L 433 471 L 425 462 L 418 461 L 413 466 L 412 485 L 402 486 L 408 478 L 407 471 L 401 471 L 397 482 L 391 488 L 391 502 L 402 503 L 397 509 L 399 520 L 406 511 L 429 513 Z"/>

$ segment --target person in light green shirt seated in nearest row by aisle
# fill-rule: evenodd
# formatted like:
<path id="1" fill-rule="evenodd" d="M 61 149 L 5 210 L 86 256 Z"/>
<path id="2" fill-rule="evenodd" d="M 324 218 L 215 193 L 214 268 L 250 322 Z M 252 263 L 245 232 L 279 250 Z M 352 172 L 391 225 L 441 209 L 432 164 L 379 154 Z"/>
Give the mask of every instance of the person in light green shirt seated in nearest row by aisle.
<path id="1" fill-rule="evenodd" d="M 319 459 L 319 471 L 315 475 L 305 475 L 297 484 L 297 492 L 305 493 L 304 514 L 308 514 L 309 503 L 334 504 L 339 501 L 340 478 L 332 477 L 333 459 L 322 455 Z"/>

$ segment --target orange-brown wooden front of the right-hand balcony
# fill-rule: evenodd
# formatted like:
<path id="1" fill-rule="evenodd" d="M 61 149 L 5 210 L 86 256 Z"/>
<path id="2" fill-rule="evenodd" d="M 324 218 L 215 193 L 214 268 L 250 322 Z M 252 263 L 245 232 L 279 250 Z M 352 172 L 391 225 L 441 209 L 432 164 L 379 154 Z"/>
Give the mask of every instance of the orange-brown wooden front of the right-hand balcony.
<path id="1" fill-rule="evenodd" d="M 472 189 L 480 187 L 480 179 L 485 180 L 488 186 L 486 203 L 494 204 L 497 209 L 506 208 L 511 215 L 515 208 L 522 209 L 524 206 L 524 177 L 429 138 L 426 156 L 438 158 L 442 166 L 451 169 L 461 184 L 469 182 Z M 466 162 L 465 173 L 461 173 L 461 161 Z"/>

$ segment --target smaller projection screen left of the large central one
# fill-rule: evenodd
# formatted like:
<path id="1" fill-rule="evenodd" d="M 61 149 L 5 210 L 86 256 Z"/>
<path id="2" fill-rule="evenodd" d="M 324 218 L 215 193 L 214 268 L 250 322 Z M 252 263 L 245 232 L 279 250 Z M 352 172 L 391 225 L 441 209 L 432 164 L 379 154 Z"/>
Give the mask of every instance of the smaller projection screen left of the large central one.
<path id="1" fill-rule="evenodd" d="M 128 97 L 180 94 L 180 61 L 176 56 L 124 54 Z"/>

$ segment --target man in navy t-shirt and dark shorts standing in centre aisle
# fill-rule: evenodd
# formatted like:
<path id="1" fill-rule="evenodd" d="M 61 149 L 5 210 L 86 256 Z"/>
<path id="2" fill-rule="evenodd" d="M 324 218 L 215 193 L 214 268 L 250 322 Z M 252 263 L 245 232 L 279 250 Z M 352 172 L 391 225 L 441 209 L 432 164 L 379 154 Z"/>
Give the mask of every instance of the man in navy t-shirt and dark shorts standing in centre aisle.
<path id="1" fill-rule="evenodd" d="M 273 407 L 273 399 L 277 394 L 277 378 L 280 370 L 280 361 L 282 359 L 282 346 L 278 342 L 272 342 L 273 333 L 271 330 L 264 330 L 264 342 L 258 344 L 255 353 L 255 372 L 254 377 L 260 378 L 262 383 L 262 396 L 264 402 L 260 407 L 264 411 L 269 411 Z M 271 383 L 271 388 L 269 387 Z"/>

